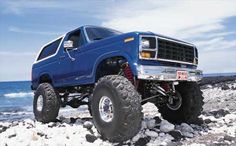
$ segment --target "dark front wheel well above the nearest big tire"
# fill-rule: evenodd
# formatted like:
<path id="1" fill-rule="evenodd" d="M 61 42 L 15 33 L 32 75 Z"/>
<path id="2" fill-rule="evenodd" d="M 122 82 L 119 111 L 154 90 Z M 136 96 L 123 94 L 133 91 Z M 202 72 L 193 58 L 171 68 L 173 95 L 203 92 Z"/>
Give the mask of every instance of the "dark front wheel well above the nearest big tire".
<path id="1" fill-rule="evenodd" d="M 96 82 L 99 78 L 106 75 L 117 75 L 120 72 L 121 65 L 126 63 L 127 60 L 122 56 L 111 57 L 104 59 L 99 63 L 96 70 Z"/>

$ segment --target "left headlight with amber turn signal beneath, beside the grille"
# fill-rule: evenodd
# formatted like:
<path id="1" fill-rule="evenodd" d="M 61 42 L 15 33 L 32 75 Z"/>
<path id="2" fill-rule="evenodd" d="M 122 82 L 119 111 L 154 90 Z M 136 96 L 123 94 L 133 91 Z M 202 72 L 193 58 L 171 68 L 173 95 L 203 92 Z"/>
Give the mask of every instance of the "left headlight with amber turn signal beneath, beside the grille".
<path id="1" fill-rule="evenodd" d="M 157 54 L 157 39 L 152 36 L 143 36 L 140 39 L 140 59 L 155 59 Z"/>

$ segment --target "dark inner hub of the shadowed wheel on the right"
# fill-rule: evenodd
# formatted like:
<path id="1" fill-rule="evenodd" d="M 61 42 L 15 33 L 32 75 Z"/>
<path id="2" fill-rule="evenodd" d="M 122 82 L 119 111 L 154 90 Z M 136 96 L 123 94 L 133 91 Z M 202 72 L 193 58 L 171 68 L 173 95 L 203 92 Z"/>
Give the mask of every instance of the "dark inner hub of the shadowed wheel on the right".
<path id="1" fill-rule="evenodd" d="M 182 105 L 181 95 L 175 91 L 174 95 L 169 96 L 167 107 L 171 110 L 178 110 Z"/>

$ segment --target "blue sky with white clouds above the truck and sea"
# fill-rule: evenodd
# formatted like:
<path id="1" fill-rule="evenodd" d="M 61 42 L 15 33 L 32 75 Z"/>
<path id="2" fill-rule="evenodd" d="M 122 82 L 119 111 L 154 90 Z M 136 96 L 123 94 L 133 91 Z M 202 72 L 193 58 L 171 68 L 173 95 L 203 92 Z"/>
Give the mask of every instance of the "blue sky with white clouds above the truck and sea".
<path id="1" fill-rule="evenodd" d="M 194 43 L 204 73 L 236 72 L 235 0 L 0 1 L 0 81 L 30 80 L 39 49 L 82 25 Z"/>

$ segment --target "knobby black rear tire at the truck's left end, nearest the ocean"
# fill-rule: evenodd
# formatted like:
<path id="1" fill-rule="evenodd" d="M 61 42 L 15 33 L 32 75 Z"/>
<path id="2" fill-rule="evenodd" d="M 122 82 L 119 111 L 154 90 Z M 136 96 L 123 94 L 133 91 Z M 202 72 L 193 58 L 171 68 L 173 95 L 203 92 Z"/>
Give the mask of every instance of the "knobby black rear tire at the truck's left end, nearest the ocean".
<path id="1" fill-rule="evenodd" d="M 38 105 L 39 98 L 42 100 L 41 108 Z M 40 84 L 34 95 L 33 111 L 35 119 L 43 123 L 54 122 L 58 116 L 59 109 L 58 95 L 52 85 L 49 83 Z"/>

